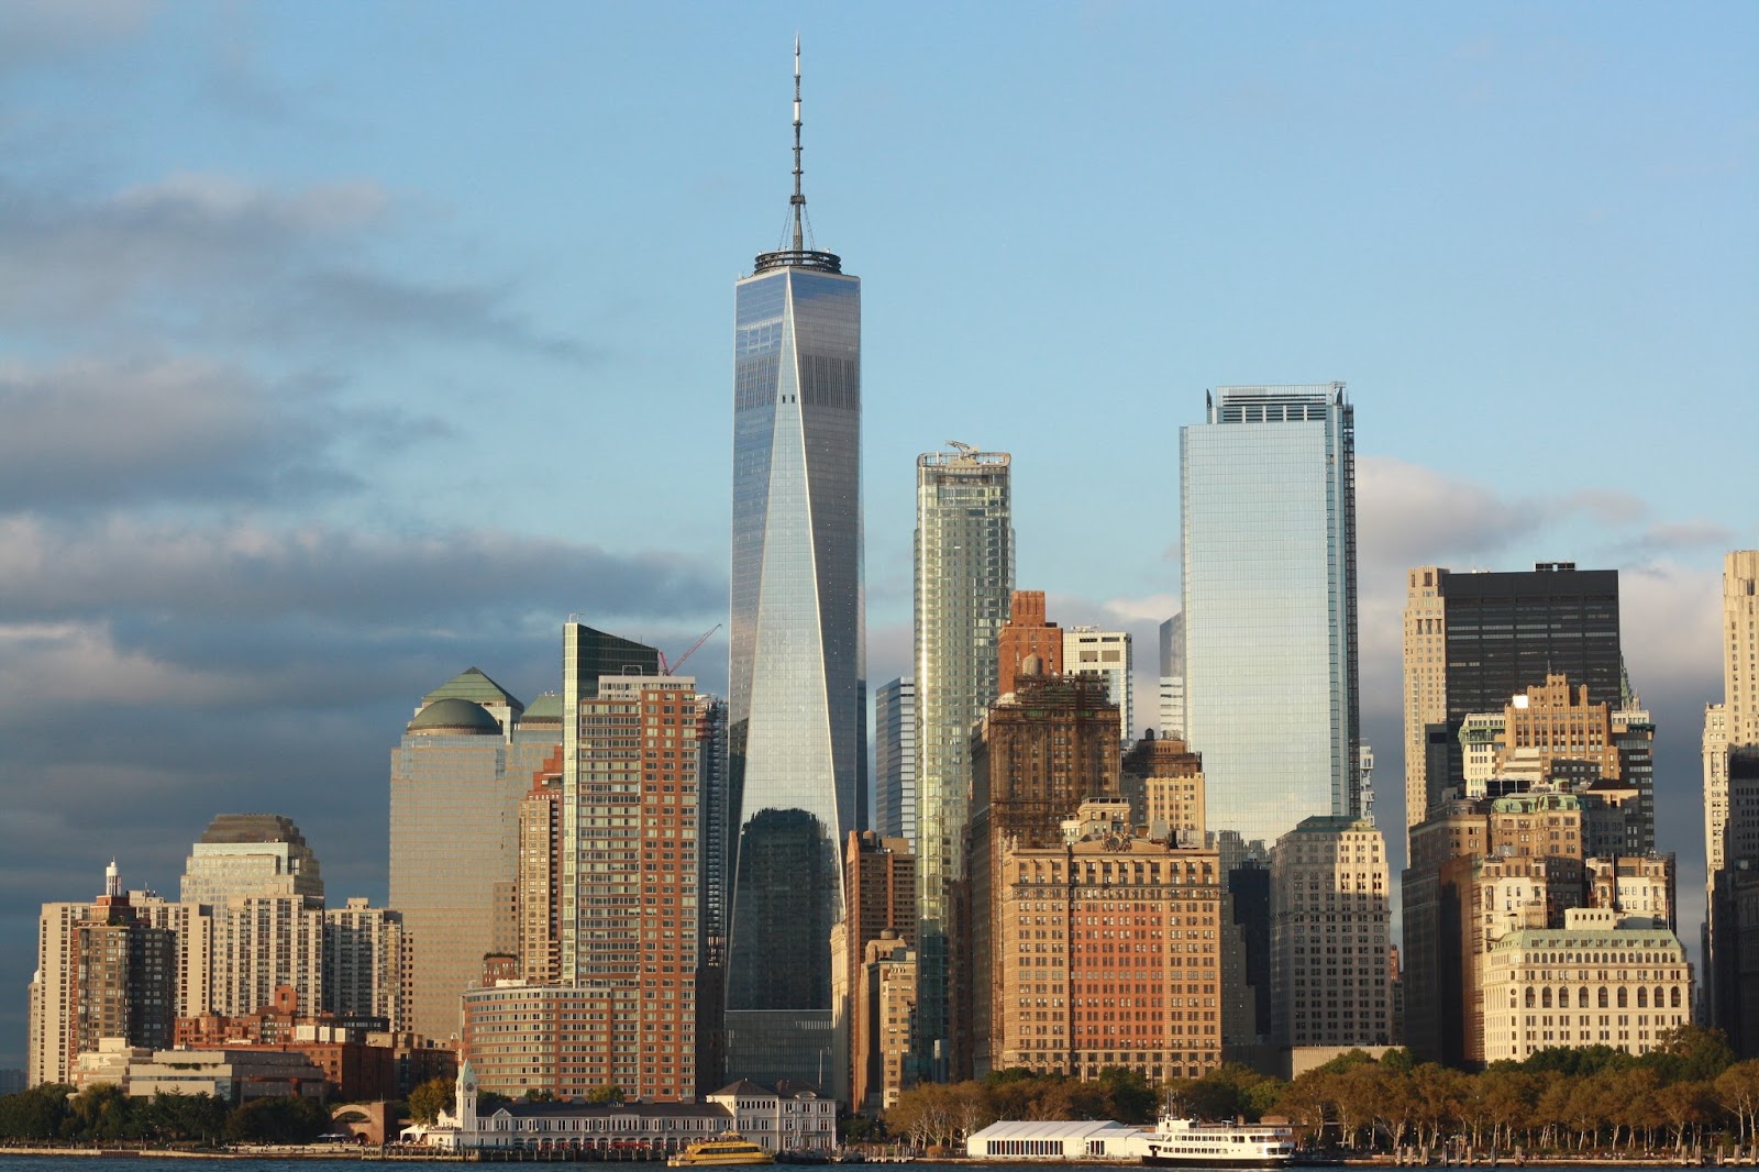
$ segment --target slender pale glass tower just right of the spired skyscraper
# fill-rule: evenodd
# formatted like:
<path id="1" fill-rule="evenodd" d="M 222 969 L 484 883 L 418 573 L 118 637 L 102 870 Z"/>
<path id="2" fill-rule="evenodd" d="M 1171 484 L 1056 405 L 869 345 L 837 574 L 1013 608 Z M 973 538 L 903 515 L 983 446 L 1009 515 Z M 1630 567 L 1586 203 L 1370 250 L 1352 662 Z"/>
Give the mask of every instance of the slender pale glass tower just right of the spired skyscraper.
<path id="1" fill-rule="evenodd" d="M 953 883 L 971 820 L 971 730 L 996 700 L 1013 595 L 1011 458 L 955 445 L 916 458 L 916 945 L 923 1054 L 946 1040 Z"/>

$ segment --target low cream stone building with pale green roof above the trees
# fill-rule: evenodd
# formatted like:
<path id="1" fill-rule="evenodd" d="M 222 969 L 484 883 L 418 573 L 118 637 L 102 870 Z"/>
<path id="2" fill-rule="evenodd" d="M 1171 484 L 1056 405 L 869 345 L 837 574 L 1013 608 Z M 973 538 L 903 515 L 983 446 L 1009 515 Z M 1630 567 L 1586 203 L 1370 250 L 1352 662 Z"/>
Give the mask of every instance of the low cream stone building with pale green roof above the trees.
<path id="1" fill-rule="evenodd" d="M 1692 1021 L 1685 949 L 1666 927 L 1611 908 L 1569 908 L 1564 927 L 1502 936 L 1485 956 L 1485 1059 L 1555 1045 L 1646 1054 Z"/>

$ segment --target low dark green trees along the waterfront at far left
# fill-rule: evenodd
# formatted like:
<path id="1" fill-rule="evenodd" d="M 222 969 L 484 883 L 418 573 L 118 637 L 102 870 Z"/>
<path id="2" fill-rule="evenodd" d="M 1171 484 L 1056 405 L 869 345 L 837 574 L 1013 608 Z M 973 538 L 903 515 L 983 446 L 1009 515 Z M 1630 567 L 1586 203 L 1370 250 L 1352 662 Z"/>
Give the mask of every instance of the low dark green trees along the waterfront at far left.
<path id="1" fill-rule="evenodd" d="M 74 1088 L 47 1082 L 0 1096 L 0 1139 L 33 1144 L 304 1144 L 331 1130 L 310 1098 L 253 1098 L 232 1107 L 211 1095 L 162 1091 L 132 1098 L 114 1082 Z"/>

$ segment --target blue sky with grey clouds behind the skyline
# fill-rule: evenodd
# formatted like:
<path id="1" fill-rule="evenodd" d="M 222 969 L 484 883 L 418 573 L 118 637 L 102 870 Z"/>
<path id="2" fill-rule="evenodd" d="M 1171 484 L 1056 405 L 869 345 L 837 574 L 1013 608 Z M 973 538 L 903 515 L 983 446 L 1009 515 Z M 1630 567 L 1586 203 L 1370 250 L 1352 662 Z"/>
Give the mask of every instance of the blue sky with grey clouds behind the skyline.
<path id="1" fill-rule="evenodd" d="M 0 1066 L 39 905 L 216 815 L 385 896 L 389 753 L 570 614 L 726 618 L 732 283 L 864 280 L 869 681 L 913 466 L 1013 454 L 1018 586 L 1179 607 L 1207 387 L 1349 385 L 1402 859 L 1404 570 L 1617 568 L 1682 936 L 1719 581 L 1759 546 L 1759 5 L 0 5 Z M 663 503 L 660 503 L 663 502 Z M 691 658 L 726 679 L 721 628 Z M 1138 723 L 1147 723 L 1140 720 Z"/>

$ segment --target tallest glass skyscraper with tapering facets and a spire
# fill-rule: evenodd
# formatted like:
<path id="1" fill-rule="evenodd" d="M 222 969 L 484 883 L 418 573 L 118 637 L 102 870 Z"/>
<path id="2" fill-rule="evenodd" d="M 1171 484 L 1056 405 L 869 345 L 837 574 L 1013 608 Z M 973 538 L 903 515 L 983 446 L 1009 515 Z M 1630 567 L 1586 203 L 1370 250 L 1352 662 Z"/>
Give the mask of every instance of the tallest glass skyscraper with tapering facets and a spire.
<path id="1" fill-rule="evenodd" d="M 728 1070 L 813 1082 L 839 846 L 867 811 L 862 283 L 813 246 L 795 44 L 792 234 L 735 287 Z M 774 957 L 788 964 L 774 964 Z"/>

